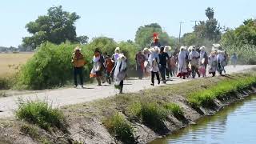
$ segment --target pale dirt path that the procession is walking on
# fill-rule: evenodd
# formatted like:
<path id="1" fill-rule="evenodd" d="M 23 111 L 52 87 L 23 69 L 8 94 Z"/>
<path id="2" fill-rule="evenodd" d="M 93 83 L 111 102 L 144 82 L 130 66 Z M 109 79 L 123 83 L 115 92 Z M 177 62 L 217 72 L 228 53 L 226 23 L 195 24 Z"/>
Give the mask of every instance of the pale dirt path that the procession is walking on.
<path id="1" fill-rule="evenodd" d="M 248 70 L 252 67 L 256 66 L 237 66 L 234 68 L 233 66 L 226 66 L 227 74 L 238 73 L 245 70 Z M 192 78 L 188 78 L 186 80 L 182 80 L 180 78 L 173 78 L 173 81 L 168 81 L 167 85 L 190 81 Z M 159 86 L 164 86 L 163 84 Z M 155 86 L 157 87 L 157 86 Z M 127 80 L 125 81 L 124 92 L 138 92 L 139 90 L 145 90 L 154 88 L 154 86 L 150 86 L 149 79 L 143 80 Z M 56 90 L 46 90 L 43 92 L 38 92 L 36 94 L 25 94 L 25 95 L 16 95 L 10 96 L 6 98 L 0 98 L 0 118 L 12 117 L 13 111 L 18 108 L 18 98 L 22 98 L 24 100 L 46 100 L 53 104 L 54 107 L 57 106 L 66 106 L 72 105 L 82 102 L 90 102 L 99 98 L 106 98 L 118 94 L 118 90 L 114 89 L 114 86 L 95 86 L 95 85 L 87 85 L 86 89 L 74 89 L 74 88 L 66 88 L 66 89 L 56 89 Z"/>

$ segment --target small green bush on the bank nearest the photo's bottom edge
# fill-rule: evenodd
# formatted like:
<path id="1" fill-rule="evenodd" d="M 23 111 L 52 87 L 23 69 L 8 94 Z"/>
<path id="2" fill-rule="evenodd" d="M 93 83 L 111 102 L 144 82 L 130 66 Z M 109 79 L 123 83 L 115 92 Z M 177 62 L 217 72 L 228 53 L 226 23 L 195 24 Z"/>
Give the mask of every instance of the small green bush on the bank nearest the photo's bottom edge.
<path id="1" fill-rule="evenodd" d="M 124 143 L 135 143 L 133 128 L 121 114 L 114 114 L 104 122 L 106 129 Z"/>

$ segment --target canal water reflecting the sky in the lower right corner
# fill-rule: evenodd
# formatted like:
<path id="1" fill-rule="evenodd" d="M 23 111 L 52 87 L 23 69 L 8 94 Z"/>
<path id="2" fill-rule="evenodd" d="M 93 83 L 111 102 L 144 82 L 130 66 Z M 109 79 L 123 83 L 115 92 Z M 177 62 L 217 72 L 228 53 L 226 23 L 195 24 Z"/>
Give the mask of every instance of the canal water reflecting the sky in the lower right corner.
<path id="1" fill-rule="evenodd" d="M 236 102 L 214 116 L 201 118 L 197 123 L 150 144 L 256 143 L 256 96 Z"/>

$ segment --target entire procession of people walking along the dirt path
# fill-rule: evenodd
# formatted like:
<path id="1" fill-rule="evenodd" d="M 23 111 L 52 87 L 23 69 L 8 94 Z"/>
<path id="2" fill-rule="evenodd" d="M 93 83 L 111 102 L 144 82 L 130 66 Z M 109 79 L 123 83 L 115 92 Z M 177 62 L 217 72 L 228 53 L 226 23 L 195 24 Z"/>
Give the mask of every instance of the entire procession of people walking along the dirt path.
<path id="1" fill-rule="evenodd" d="M 231 56 L 232 63 L 237 62 L 236 54 Z M 181 46 L 180 50 L 171 52 L 170 46 L 161 46 L 158 34 L 154 34 L 154 41 L 150 48 L 138 50 L 135 56 L 136 71 L 138 78 L 151 77 L 151 85 L 154 86 L 154 78 L 158 80 L 158 84 L 166 83 L 172 80 L 171 77 L 177 76 L 179 78 L 195 78 L 206 77 L 208 66 L 209 74 L 214 77 L 216 72 L 225 74 L 225 66 L 229 60 L 229 55 L 222 50 L 218 44 L 214 45 L 210 54 L 206 52 L 206 47 L 201 46 Z M 106 53 L 102 54 L 100 49 L 94 50 L 94 57 L 92 59 L 93 67 L 90 71 L 90 78 L 96 78 L 98 86 L 102 83 L 114 82 L 114 86 L 118 88 L 122 94 L 123 81 L 126 78 L 127 58 L 121 53 L 119 47 L 114 50 L 113 55 Z M 72 56 L 72 63 L 74 66 L 74 87 L 78 86 L 77 76 L 79 76 L 80 84 L 83 87 L 83 66 L 86 65 L 84 56 L 79 47 L 74 49 Z M 161 78 L 161 79 L 160 79 Z"/>

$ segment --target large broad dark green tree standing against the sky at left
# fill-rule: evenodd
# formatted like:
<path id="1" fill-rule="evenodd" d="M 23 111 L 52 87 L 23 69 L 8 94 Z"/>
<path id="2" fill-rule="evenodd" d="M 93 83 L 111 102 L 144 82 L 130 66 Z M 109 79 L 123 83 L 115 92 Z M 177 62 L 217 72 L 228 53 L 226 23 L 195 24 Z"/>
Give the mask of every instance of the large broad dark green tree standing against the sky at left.
<path id="1" fill-rule="evenodd" d="M 31 37 L 23 38 L 24 46 L 35 49 L 43 42 L 60 44 L 66 42 L 77 42 L 76 22 L 80 16 L 62 10 L 62 6 L 50 7 L 47 15 L 39 16 L 34 22 L 26 24 L 26 30 L 33 34 Z"/>

